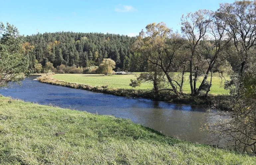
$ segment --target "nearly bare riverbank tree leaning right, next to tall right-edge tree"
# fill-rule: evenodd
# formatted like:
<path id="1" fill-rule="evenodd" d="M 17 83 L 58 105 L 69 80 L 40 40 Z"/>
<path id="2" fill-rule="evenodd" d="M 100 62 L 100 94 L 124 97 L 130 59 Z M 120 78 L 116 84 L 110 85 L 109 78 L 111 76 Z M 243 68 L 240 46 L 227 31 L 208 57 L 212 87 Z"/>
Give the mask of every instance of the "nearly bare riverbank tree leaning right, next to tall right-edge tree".
<path id="1" fill-rule="evenodd" d="M 202 47 L 199 46 L 198 55 L 202 59 L 205 59 L 205 62 L 208 64 L 206 71 L 204 72 L 203 80 L 196 91 L 197 94 L 200 91 L 205 90 L 205 97 L 210 91 L 211 82 L 212 82 L 212 69 L 219 71 L 218 66 L 222 66 L 226 62 L 226 59 L 229 57 L 227 50 L 230 46 L 230 40 L 232 39 L 225 30 L 226 24 L 224 24 L 214 13 L 211 14 L 211 21 L 207 28 L 207 38 L 202 42 Z M 221 63 L 222 65 L 218 65 Z M 211 75 L 210 82 L 207 82 L 208 75 Z M 219 76 L 223 77 L 222 74 Z"/>

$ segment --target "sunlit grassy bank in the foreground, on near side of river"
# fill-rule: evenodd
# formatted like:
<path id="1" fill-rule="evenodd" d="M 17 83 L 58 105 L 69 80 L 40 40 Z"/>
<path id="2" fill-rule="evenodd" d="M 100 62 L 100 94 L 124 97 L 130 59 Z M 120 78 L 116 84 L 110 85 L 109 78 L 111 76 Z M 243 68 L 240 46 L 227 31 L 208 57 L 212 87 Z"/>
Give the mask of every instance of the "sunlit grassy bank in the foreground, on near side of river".
<path id="1" fill-rule="evenodd" d="M 0 97 L 0 164 L 256 164 L 127 119 L 8 101 Z"/>

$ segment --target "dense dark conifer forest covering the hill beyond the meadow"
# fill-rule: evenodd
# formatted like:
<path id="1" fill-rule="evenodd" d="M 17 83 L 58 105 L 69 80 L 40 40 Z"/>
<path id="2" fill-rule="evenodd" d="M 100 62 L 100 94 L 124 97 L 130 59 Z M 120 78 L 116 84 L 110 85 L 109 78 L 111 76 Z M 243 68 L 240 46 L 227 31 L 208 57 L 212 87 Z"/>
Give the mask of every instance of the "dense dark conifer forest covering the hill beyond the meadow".
<path id="1" fill-rule="evenodd" d="M 24 38 L 23 47 L 29 55 L 29 69 L 36 72 L 35 66 L 47 62 L 54 67 L 98 66 L 103 59 L 116 62 L 116 69 L 146 71 L 146 63 L 139 63 L 140 54 L 131 50 L 136 37 L 119 34 L 55 32 L 38 33 Z"/>

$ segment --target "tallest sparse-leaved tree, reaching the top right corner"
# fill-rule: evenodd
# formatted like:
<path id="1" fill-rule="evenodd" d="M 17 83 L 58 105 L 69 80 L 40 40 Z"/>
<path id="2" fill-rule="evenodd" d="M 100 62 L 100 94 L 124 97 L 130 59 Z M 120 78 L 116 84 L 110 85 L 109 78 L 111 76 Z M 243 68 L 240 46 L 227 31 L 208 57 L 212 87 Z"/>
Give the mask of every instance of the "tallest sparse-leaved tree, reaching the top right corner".
<path id="1" fill-rule="evenodd" d="M 221 4 L 216 16 L 225 25 L 225 30 L 232 38 L 234 49 L 229 61 L 235 71 L 233 84 L 237 86 L 237 96 L 240 95 L 244 73 L 255 56 L 256 46 L 256 1 L 235 1 L 232 4 Z M 231 79 L 232 80 L 232 79 Z M 231 87 L 231 88 L 233 88 Z"/>

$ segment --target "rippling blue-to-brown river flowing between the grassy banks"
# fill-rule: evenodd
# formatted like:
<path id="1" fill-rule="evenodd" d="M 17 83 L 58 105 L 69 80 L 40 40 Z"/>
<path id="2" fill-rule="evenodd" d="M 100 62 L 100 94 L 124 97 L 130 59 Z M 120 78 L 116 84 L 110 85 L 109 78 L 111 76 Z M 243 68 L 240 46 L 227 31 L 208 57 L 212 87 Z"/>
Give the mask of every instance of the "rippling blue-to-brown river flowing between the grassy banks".
<path id="1" fill-rule="evenodd" d="M 52 104 L 91 113 L 131 119 L 163 134 L 192 142 L 208 144 L 212 137 L 201 132 L 202 124 L 212 122 L 205 108 L 187 104 L 126 98 L 40 83 L 30 76 L 21 85 L 0 88 L 0 94 L 26 102 Z"/>

